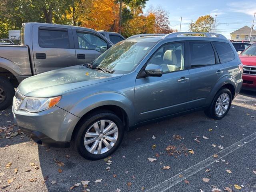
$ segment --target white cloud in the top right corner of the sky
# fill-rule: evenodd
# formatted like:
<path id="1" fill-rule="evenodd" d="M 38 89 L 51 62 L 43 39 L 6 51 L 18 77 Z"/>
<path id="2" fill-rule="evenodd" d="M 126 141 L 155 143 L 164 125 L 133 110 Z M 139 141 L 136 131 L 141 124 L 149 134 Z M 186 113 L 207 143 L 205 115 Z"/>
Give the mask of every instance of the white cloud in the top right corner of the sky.
<path id="1" fill-rule="evenodd" d="M 248 2 L 233 2 L 229 3 L 228 6 L 233 12 L 244 13 L 248 15 L 253 15 L 256 12 L 256 3 L 255 1 Z"/>

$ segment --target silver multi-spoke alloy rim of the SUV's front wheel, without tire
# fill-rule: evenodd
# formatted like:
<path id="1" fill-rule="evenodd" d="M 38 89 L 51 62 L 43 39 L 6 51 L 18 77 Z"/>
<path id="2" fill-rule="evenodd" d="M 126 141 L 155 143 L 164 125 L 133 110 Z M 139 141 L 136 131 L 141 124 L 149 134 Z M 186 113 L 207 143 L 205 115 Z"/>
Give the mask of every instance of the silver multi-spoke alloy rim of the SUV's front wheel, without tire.
<path id="1" fill-rule="evenodd" d="M 92 154 L 103 154 L 110 150 L 117 141 L 118 127 L 111 120 L 95 122 L 84 136 L 84 146 Z"/>

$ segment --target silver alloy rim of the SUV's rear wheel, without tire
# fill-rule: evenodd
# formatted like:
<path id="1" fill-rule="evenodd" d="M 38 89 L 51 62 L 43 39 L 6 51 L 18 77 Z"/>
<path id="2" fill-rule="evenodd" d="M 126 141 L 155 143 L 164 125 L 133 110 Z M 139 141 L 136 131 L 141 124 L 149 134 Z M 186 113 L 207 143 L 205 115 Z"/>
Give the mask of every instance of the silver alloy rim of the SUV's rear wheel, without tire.
<path id="1" fill-rule="evenodd" d="M 226 113 L 229 106 L 230 98 L 229 95 L 223 93 L 219 96 L 216 104 L 215 104 L 215 112 L 218 116 L 222 116 Z"/>

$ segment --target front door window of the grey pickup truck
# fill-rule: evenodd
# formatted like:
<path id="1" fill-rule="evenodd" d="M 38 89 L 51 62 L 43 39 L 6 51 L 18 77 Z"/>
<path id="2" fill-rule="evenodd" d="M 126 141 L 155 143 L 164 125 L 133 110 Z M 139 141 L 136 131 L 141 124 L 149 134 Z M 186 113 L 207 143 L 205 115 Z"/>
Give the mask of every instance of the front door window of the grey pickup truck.
<path id="1" fill-rule="evenodd" d="M 98 52 L 107 50 L 107 42 L 93 33 L 77 32 L 80 49 L 92 49 Z"/>

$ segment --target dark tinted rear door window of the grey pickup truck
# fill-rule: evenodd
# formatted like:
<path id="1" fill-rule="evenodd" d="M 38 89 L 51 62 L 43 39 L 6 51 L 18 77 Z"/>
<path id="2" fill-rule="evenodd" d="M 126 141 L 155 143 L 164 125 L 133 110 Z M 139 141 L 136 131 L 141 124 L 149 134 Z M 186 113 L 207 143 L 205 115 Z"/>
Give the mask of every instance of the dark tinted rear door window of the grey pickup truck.
<path id="1" fill-rule="evenodd" d="M 70 48 L 67 30 L 39 29 L 38 43 L 44 48 Z"/>

